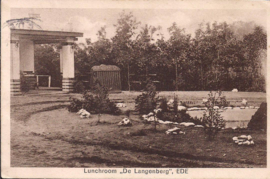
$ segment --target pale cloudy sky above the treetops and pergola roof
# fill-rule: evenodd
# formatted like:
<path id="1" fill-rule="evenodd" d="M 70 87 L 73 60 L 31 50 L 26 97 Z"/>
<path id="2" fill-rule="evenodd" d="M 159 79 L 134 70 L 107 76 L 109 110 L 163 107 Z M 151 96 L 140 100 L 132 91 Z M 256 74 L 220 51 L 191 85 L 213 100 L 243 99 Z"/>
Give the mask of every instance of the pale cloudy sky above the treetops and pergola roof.
<path id="1" fill-rule="evenodd" d="M 254 22 L 266 29 L 265 10 L 183 10 L 183 9 L 56 9 L 56 8 L 14 8 L 11 9 L 11 18 L 29 17 L 29 14 L 40 14 L 42 22 L 37 22 L 42 30 L 73 31 L 84 33 L 79 42 L 84 38 L 91 38 L 92 42 L 97 40 L 97 31 L 106 26 L 107 38 L 115 35 L 114 24 L 117 23 L 122 11 L 132 12 L 140 26 L 145 24 L 161 26 L 161 33 L 165 39 L 169 37 L 167 28 L 173 22 L 186 33 L 192 36 L 199 24 L 202 22 L 224 22 L 233 23 L 237 21 Z M 140 30 L 140 28 L 138 29 Z"/>

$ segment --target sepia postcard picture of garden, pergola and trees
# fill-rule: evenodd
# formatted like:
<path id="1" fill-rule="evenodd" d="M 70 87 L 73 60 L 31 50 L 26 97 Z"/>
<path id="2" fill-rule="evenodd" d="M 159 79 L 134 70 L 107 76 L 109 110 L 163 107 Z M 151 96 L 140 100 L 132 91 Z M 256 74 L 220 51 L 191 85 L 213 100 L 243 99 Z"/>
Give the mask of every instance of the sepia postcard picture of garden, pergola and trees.
<path id="1" fill-rule="evenodd" d="M 267 169 L 267 8 L 59 4 L 2 22 L 7 166 Z"/>

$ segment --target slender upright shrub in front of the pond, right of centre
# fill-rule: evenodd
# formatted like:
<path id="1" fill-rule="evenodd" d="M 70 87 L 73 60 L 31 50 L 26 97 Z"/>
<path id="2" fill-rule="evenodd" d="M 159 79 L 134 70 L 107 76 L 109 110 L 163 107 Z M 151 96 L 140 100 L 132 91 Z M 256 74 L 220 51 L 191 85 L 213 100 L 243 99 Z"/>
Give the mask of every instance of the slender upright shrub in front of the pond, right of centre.
<path id="1" fill-rule="evenodd" d="M 225 127 L 225 121 L 220 112 L 214 109 L 214 106 L 219 103 L 218 99 L 221 97 L 221 92 L 210 92 L 208 96 L 208 102 L 205 103 L 207 110 L 204 112 L 201 122 L 208 139 L 211 140 L 217 135 L 218 131 Z"/>

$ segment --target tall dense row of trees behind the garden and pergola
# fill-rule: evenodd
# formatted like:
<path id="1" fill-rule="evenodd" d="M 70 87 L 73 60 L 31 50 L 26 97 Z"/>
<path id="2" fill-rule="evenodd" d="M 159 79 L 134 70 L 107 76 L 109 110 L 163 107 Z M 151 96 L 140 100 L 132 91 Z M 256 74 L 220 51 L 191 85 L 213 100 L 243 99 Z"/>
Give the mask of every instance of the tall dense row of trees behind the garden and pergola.
<path id="1" fill-rule="evenodd" d="M 205 22 L 194 37 L 173 23 L 165 38 L 162 27 L 141 25 L 132 13 L 123 11 L 116 19 L 111 39 L 106 27 L 101 27 L 96 42 L 86 39 L 75 44 L 76 74 L 89 75 L 94 65 L 107 64 L 121 69 L 123 90 L 130 89 L 130 76 L 144 82 L 156 74 L 157 90 L 265 91 L 262 62 L 267 59 L 267 34 L 254 23 Z M 55 73 L 59 72 L 59 52 L 52 49 L 55 45 L 37 45 L 35 68 L 38 74 L 51 75 L 54 86 L 54 81 L 61 84 L 61 75 Z M 142 83 L 141 89 L 146 84 Z"/>

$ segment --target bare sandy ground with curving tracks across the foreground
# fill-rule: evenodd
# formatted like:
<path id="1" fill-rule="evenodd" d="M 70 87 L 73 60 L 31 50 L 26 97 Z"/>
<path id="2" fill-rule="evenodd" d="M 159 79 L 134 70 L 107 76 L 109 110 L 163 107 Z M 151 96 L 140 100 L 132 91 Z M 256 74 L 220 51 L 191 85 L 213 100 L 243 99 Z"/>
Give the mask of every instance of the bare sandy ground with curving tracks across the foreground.
<path id="1" fill-rule="evenodd" d="M 21 96 L 11 106 L 12 167 L 266 167 L 266 133 L 224 130 L 213 141 L 203 129 L 181 127 L 185 135 L 166 135 L 174 125 L 143 123 L 132 115 L 81 119 L 65 106 L 69 95 Z M 250 134 L 254 146 L 237 146 L 233 136 Z"/>

